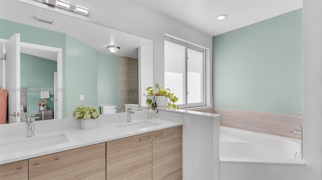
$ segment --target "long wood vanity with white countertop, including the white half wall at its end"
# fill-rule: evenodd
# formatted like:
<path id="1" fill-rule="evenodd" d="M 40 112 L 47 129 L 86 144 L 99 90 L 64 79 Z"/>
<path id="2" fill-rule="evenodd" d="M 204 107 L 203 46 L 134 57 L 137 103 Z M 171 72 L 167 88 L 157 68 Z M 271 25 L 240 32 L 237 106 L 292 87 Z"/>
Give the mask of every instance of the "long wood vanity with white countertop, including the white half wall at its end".
<path id="1" fill-rule="evenodd" d="M 213 132 L 216 126 L 219 129 L 219 115 L 159 110 L 146 120 L 142 111 L 132 116 L 132 122 L 126 122 L 126 115 L 102 115 L 97 127 L 88 130 L 79 128 L 73 118 L 36 121 L 34 142 L 30 142 L 34 145 L 26 143 L 22 149 L 10 149 L 15 146 L 4 143 L 24 139 L 20 133 L 26 130 L 24 124 L 14 125 L 20 133 L 14 137 L 4 134 L 14 128 L 9 127 L 12 124 L 0 126 L 1 178 L 216 179 L 213 142 L 217 135 Z M 42 137 L 56 138 L 58 144 L 42 145 Z"/>

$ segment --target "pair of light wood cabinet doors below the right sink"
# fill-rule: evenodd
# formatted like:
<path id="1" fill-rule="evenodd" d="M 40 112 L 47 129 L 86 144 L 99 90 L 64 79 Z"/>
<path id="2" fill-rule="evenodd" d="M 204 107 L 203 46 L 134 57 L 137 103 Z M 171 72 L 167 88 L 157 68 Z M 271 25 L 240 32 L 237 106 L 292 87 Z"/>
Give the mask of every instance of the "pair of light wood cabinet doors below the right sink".
<path id="1" fill-rule="evenodd" d="M 182 179 L 182 126 L 106 143 L 110 179 Z"/>

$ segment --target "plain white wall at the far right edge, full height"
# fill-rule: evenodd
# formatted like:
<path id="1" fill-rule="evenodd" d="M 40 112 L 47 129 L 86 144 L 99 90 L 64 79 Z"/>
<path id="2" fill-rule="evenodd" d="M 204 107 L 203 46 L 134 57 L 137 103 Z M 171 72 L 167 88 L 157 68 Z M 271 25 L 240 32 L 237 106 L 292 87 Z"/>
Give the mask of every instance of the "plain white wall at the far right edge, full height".
<path id="1" fill-rule="evenodd" d="M 322 179 L 322 1 L 303 0 L 303 82 L 306 179 Z"/>

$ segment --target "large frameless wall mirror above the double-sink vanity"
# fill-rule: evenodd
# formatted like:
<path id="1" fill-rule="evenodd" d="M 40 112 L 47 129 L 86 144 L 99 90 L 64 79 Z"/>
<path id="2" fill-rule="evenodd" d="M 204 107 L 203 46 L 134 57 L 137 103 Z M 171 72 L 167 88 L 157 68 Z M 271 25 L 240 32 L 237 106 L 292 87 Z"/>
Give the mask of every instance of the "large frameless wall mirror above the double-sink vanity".
<path id="1" fill-rule="evenodd" d="M 0 12 L 9 123 L 44 110 L 52 114 L 46 119 L 72 117 L 79 105 L 115 105 L 118 112 L 144 105 L 141 90 L 153 85 L 152 40 L 19 1 L 1 2 Z M 113 55 L 109 45 L 120 50 Z"/>

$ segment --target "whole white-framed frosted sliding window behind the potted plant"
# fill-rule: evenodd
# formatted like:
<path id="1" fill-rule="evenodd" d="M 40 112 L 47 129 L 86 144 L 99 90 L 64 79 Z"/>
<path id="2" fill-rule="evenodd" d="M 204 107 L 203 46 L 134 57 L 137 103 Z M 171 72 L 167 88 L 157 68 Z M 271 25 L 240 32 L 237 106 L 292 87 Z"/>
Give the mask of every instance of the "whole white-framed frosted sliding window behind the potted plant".
<path id="1" fill-rule="evenodd" d="M 205 50 L 166 37 L 165 87 L 179 98 L 180 108 L 204 106 Z"/>

